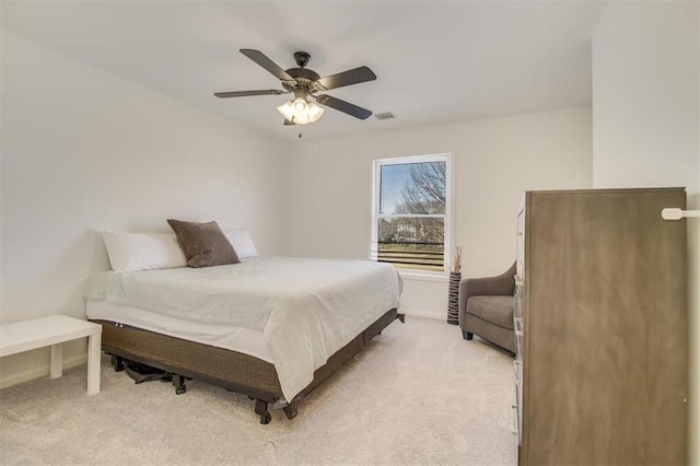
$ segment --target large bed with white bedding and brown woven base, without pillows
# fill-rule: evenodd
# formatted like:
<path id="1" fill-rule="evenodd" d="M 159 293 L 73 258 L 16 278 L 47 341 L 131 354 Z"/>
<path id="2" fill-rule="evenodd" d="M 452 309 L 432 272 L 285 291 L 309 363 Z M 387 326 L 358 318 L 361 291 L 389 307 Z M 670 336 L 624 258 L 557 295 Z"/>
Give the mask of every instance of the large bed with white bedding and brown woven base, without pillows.
<path id="1" fill-rule="evenodd" d="M 248 395 L 261 423 L 299 403 L 395 319 L 401 279 L 387 264 L 244 257 L 207 268 L 103 271 L 86 314 L 115 370 L 136 361 Z"/>

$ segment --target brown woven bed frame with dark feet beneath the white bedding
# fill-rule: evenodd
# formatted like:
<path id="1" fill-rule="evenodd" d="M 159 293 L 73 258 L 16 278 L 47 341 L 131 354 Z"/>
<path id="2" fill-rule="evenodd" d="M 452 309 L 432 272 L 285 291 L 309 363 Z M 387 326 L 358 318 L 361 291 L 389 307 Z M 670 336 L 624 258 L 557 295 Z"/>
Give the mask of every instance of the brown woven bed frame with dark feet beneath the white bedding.
<path id="1" fill-rule="evenodd" d="M 208 382 L 255 399 L 255 412 L 260 422 L 270 421 L 270 409 L 282 408 L 289 419 L 296 416 L 299 401 L 335 373 L 345 362 L 362 351 L 364 345 L 395 319 L 404 322 L 396 308 L 387 311 L 352 341 L 332 354 L 314 372 L 314 380 L 291 401 L 284 400 L 275 365 L 258 358 L 170 337 L 108 321 L 92 321 L 102 325 L 102 349 L 112 356 L 115 371 L 124 370 L 130 360 L 173 374 L 175 393 L 186 392 L 185 380 Z"/>

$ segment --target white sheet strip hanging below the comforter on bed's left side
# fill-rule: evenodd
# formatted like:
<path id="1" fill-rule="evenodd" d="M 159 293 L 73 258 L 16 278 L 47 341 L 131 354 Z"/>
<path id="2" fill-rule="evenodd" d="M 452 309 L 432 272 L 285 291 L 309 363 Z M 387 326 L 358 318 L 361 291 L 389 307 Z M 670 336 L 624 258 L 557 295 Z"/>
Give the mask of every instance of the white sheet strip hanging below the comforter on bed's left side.
<path id="1" fill-rule="evenodd" d="M 242 352 L 273 363 L 260 330 L 226 324 L 183 321 L 135 306 L 88 300 L 88 318 L 116 322 L 183 340 Z"/>

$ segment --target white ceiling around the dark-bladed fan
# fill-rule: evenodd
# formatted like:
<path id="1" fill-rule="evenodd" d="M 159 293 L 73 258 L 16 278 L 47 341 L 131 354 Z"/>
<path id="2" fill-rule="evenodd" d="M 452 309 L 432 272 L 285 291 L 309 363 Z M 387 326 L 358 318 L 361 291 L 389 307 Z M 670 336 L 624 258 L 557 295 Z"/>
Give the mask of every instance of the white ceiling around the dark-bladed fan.
<path id="1" fill-rule="evenodd" d="M 238 53 L 281 68 L 311 54 L 322 77 L 359 66 L 376 81 L 328 91 L 396 118 L 359 120 L 327 108 L 305 137 L 358 135 L 591 105 L 591 37 L 599 1 L 226 2 L 4 1 L 3 27 L 78 60 L 247 125 L 295 138 L 276 107 L 289 95 Z"/>

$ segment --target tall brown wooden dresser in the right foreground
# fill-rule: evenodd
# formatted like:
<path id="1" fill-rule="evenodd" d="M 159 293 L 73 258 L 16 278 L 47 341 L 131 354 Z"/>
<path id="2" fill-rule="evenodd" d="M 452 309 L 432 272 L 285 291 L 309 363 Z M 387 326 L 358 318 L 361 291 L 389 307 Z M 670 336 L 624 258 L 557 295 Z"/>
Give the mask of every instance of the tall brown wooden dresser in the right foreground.
<path id="1" fill-rule="evenodd" d="M 682 188 L 528 191 L 517 218 L 521 465 L 685 465 Z"/>

